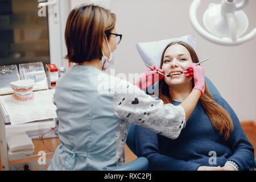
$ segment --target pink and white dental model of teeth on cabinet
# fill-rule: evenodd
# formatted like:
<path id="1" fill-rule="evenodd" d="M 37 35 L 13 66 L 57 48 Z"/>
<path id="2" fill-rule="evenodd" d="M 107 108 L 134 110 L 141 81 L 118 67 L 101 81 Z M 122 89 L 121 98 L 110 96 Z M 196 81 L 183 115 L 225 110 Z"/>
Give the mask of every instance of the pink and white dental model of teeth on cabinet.
<path id="1" fill-rule="evenodd" d="M 10 82 L 14 90 L 13 98 L 18 104 L 29 104 L 34 100 L 33 80 L 18 80 Z"/>

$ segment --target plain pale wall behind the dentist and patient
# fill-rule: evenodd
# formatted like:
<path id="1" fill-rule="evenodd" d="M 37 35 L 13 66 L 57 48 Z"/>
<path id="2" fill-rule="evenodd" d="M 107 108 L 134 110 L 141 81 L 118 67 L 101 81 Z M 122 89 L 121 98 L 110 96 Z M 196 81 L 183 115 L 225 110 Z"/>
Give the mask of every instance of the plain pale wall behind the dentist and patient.
<path id="1" fill-rule="evenodd" d="M 72 0 L 71 7 L 83 2 L 88 1 Z M 210 2 L 221 1 L 204 0 L 197 14 L 199 19 Z M 112 0 L 111 10 L 117 15 L 117 31 L 123 34 L 112 68 L 116 74 L 142 73 L 146 67 L 135 44 L 196 35 L 199 59 L 210 58 L 203 63 L 205 75 L 229 102 L 240 121 L 256 121 L 256 38 L 236 47 L 208 42 L 197 34 L 189 21 L 191 3 L 192 0 Z M 247 32 L 256 27 L 255 7 L 256 1 L 249 1 L 243 9 L 250 22 Z"/>

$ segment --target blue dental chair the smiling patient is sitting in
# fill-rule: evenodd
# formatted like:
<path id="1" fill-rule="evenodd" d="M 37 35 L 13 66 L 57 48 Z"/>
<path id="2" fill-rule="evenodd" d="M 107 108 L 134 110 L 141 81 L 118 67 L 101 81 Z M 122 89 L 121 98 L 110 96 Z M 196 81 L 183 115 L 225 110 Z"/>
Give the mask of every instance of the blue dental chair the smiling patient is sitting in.
<path id="1" fill-rule="evenodd" d="M 205 82 L 207 83 L 210 94 L 221 96 L 220 92 L 218 92 L 217 88 L 213 85 L 212 81 L 210 81 L 209 78 L 205 77 Z M 130 150 L 135 155 L 138 156 L 138 152 L 136 150 L 136 143 L 135 143 L 135 125 L 134 124 L 131 124 L 130 126 L 126 144 L 130 148 Z M 256 159 L 254 160 L 254 163 L 255 163 L 254 167 L 256 168 Z M 124 164 L 123 166 L 114 167 L 109 170 L 110 171 L 147 171 L 147 169 L 148 169 L 148 160 L 144 157 L 139 157 L 130 163 Z"/>

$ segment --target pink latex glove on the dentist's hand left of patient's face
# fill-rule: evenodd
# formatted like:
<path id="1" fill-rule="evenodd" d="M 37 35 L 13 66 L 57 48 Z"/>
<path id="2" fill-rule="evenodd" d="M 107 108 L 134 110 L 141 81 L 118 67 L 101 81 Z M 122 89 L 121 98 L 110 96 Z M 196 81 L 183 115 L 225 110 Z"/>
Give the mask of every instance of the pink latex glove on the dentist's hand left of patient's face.
<path id="1" fill-rule="evenodd" d="M 163 69 L 159 69 L 158 65 L 154 64 L 151 67 L 163 73 Z M 158 72 L 152 70 L 151 68 L 147 68 L 146 71 L 139 76 L 138 80 L 135 81 L 134 85 L 137 85 L 138 88 L 142 90 L 146 90 L 156 81 L 160 81 L 163 78 L 163 75 L 160 75 Z"/>

